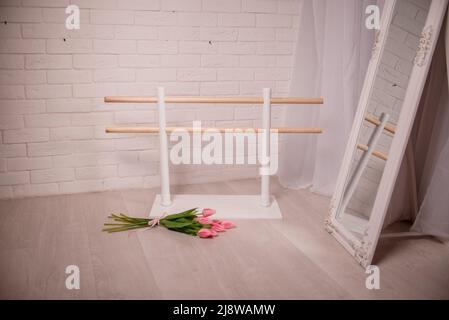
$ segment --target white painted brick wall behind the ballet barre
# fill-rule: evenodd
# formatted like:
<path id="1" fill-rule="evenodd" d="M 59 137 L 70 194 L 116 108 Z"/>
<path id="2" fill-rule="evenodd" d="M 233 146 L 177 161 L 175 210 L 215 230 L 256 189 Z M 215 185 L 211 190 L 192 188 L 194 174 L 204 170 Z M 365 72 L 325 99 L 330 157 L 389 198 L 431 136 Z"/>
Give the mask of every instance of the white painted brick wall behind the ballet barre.
<path id="1" fill-rule="evenodd" d="M 65 28 L 71 3 L 80 30 Z M 104 133 L 155 125 L 155 105 L 102 98 L 159 85 L 170 95 L 285 95 L 298 14 L 299 0 L 0 0 L 0 198 L 157 186 L 157 136 Z M 168 107 L 174 125 L 260 122 L 253 106 Z M 254 166 L 185 166 L 172 183 L 250 176 Z"/>

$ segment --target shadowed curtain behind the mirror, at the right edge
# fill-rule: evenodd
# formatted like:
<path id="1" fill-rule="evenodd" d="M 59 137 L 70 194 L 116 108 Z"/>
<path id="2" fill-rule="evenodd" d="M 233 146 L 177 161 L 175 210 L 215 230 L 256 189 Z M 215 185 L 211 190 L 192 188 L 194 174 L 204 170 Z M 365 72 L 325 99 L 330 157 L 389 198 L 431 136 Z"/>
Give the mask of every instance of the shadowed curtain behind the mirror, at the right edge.
<path id="1" fill-rule="evenodd" d="M 447 18 L 446 18 L 447 19 Z M 445 41 L 444 41 L 445 40 Z M 445 47 L 444 47 L 445 45 Z M 444 50 L 444 48 L 446 50 Z M 445 59 L 446 58 L 446 59 Z M 415 157 L 420 209 L 412 230 L 449 240 L 449 24 L 432 62 L 417 134 Z M 426 103 L 428 102 L 428 103 Z M 430 114 L 431 116 L 425 116 Z M 418 146 L 420 148 L 418 148 Z"/>

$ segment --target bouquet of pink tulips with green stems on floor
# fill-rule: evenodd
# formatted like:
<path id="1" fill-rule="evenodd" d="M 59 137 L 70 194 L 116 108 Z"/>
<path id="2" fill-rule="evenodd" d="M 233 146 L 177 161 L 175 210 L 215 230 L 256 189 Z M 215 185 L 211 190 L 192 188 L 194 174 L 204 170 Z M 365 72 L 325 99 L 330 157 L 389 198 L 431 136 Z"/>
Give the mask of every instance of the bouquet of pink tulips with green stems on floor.
<path id="1" fill-rule="evenodd" d="M 113 223 L 105 223 L 103 231 L 119 232 L 140 228 L 153 228 L 155 226 L 163 226 L 169 230 L 198 236 L 200 238 L 214 238 L 219 232 L 226 229 L 234 228 L 235 225 L 231 221 L 211 220 L 211 216 L 215 214 L 214 209 L 203 209 L 199 212 L 198 208 L 193 208 L 180 213 L 163 215 L 159 218 L 133 218 L 124 214 L 112 214 L 108 218 Z"/>

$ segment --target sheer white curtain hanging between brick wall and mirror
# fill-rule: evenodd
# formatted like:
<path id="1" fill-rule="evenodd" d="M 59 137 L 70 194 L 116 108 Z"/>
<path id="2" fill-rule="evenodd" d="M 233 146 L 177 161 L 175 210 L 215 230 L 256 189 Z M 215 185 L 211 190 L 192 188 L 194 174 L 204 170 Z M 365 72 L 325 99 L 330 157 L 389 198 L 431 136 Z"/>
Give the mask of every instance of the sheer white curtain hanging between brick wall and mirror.
<path id="1" fill-rule="evenodd" d="M 284 124 L 319 126 L 325 134 L 283 137 L 284 186 L 332 194 L 371 57 L 374 31 L 365 27 L 365 8 L 378 2 L 302 1 L 290 95 L 322 96 L 325 104 L 288 107 Z"/>

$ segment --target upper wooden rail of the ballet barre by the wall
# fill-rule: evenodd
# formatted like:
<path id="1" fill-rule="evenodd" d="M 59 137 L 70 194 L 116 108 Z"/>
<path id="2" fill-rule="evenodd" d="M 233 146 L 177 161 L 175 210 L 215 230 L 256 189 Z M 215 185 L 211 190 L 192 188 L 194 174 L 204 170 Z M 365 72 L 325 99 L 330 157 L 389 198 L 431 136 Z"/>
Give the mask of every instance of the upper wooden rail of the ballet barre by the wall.
<path id="1" fill-rule="evenodd" d="M 166 103 L 263 104 L 261 97 L 165 97 Z M 157 97 L 104 97 L 104 102 L 157 103 Z M 271 98 L 272 104 L 323 104 L 323 98 Z"/>

